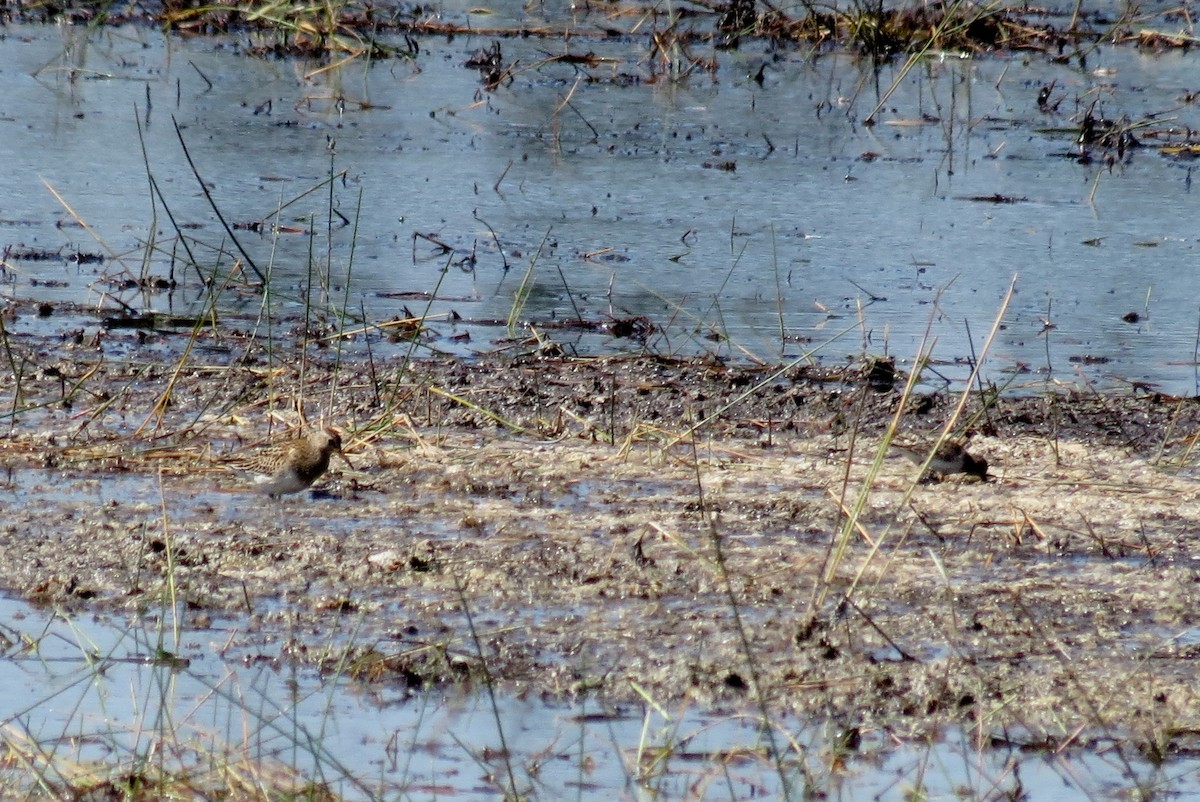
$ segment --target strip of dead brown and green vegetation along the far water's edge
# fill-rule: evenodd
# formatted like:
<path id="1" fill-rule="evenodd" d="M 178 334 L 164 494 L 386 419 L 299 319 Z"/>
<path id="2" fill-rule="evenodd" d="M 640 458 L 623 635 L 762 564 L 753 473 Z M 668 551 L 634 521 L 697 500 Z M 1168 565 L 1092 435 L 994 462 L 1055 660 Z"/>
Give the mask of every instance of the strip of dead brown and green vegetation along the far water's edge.
<path id="1" fill-rule="evenodd" d="M 692 46 L 736 49 L 746 40 L 850 47 L 876 59 L 926 52 L 1032 50 L 1081 62 L 1087 58 L 1088 46 L 1100 41 L 1151 50 L 1189 49 L 1196 41 L 1188 35 L 1154 30 L 1153 18 L 1141 8 L 1130 7 L 1115 19 L 1106 12 L 1086 13 L 1076 8 L 1055 25 L 1051 12 L 1038 6 L 964 1 L 899 7 L 856 1 L 842 8 L 812 2 L 781 7 L 761 0 L 702 1 L 674 7 L 642 0 L 619 6 L 578 7 L 570 25 L 534 19 L 509 26 L 479 24 L 479 18 L 490 14 L 486 8 L 470 10 L 467 19 L 457 20 L 440 8 L 422 4 L 379 6 L 366 0 L 312 5 L 292 0 L 200 5 L 168 0 L 155 11 L 83 2 L 22 4 L 8 13 L 29 20 L 145 22 L 203 35 L 245 31 L 274 35 L 274 38 L 246 47 L 247 53 L 262 58 L 415 59 L 420 53 L 416 37 L 422 35 L 469 34 L 497 38 L 569 35 L 572 41 L 641 36 L 652 43 L 654 56 L 650 61 L 659 60 L 674 73 L 714 66 L 708 56 L 689 53 Z M 1164 28 L 1171 13 L 1172 10 L 1162 12 Z M 384 44 L 379 40 L 383 35 L 401 35 L 403 44 Z M 592 53 L 551 58 L 583 66 L 596 64 Z M 466 66 L 479 68 L 488 88 L 498 86 L 514 70 L 514 65 L 504 64 L 498 42 L 476 52 Z"/>

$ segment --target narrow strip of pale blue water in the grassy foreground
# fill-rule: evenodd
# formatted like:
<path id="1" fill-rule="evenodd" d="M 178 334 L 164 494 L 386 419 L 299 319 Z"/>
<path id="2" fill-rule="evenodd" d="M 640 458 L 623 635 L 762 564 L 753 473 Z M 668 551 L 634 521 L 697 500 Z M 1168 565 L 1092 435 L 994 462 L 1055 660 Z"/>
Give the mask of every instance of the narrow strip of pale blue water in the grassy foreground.
<path id="1" fill-rule="evenodd" d="M 533 798 L 778 798 L 779 776 L 749 711 L 611 707 L 502 693 L 419 693 L 320 677 L 286 656 L 287 641 L 258 651 L 228 648 L 242 624 L 185 624 L 176 641 L 167 620 L 83 617 L 0 602 L 8 639 L 0 659 L 0 723 L 6 743 L 37 743 L 56 770 L 98 761 L 137 771 L 181 759 L 198 786 L 223 768 L 286 784 L 319 778 L 346 798 L 496 798 L 511 777 Z M 181 612 L 181 615 L 185 615 Z M 154 659 L 161 650 L 184 662 Z M 860 734 L 836 770 L 829 725 L 778 722 L 803 749 L 788 765 L 828 798 L 991 798 L 1021 789 L 1027 800 L 1114 798 L 1153 789 L 1190 798 L 1200 764 L 1123 762 L 1121 749 L 1090 754 L 976 749 L 961 732 L 936 743 Z M 502 735 L 503 732 L 503 741 Z M 1021 740 L 1013 734 L 1014 742 Z M 782 743 L 780 742 L 780 746 Z M 190 748 L 214 764 L 191 762 Z M 158 756 L 158 753 L 162 756 Z M 637 767 L 642 767 L 637 777 Z M 107 772 L 101 771 L 101 777 Z M 793 780 L 798 780 L 797 774 Z M 208 778 L 208 779 L 205 779 Z M 299 780 L 298 780 L 299 782 Z M 397 797 L 397 795 L 400 795 Z"/>

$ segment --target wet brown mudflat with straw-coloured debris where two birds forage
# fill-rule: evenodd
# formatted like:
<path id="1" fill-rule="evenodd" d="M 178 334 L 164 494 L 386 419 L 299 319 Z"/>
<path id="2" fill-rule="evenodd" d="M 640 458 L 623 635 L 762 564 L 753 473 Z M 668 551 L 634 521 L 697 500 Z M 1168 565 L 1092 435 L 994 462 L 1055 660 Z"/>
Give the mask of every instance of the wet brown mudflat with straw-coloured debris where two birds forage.
<path id="1" fill-rule="evenodd" d="M 232 415 L 180 429 L 154 461 L 136 451 L 148 437 L 116 433 L 119 411 L 74 443 L 66 413 L 53 444 L 50 421 L 18 425 L 10 480 L 38 501 L 8 493 L 0 582 L 155 614 L 173 573 L 193 624 L 248 615 L 235 640 L 253 653 L 374 682 L 478 681 L 469 612 L 488 672 L 518 692 L 625 700 L 636 683 L 709 704 L 757 683 L 773 710 L 847 725 L 1087 726 L 1160 749 L 1200 731 L 1195 400 L 1002 399 L 970 443 L 992 481 L 916 484 L 888 456 L 834 559 L 899 403 L 857 371 L 421 363 L 388 375 L 398 405 L 374 437 L 374 383 L 342 372 L 355 467 L 335 465 L 313 498 L 222 487 L 204 450 L 232 438 Z M 176 381 L 168 423 L 226 397 L 244 419 L 268 393 Z M 934 431 L 953 401 L 912 400 L 905 433 Z M 26 473 L 84 491 L 38 496 Z M 142 490 L 88 490 L 118 479 Z"/>

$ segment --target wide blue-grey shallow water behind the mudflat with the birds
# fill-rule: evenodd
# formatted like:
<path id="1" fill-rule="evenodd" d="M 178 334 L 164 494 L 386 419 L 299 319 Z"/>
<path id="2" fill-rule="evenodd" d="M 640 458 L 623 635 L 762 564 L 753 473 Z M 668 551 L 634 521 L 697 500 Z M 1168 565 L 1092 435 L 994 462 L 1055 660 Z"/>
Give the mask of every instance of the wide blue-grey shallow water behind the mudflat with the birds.
<path id="1" fill-rule="evenodd" d="M 1099 48 L 1091 72 L 940 54 L 868 127 L 862 120 L 898 65 L 874 76 L 847 56 L 755 43 L 716 54 L 712 77 L 625 85 L 613 77 L 648 74 L 644 38 L 574 42 L 575 52 L 613 59 L 578 84 L 574 66 L 535 66 L 558 40 L 506 38 L 505 62 L 527 68 L 488 94 L 463 66 L 491 44 L 482 36 L 422 40 L 415 66 L 352 62 L 312 74 L 316 65 L 246 58 L 223 38 L 7 30 L 0 158 L 17 167 L 0 176 L 0 245 L 121 259 L 10 258 L 13 297 L 203 309 L 191 269 L 176 267 L 184 286 L 169 294 L 107 280 L 142 273 L 151 221 L 163 250 L 150 273 L 167 276 L 168 251 L 179 253 L 163 210 L 151 213 L 139 122 L 149 170 L 198 240 L 199 263 L 228 267 L 236 256 L 187 168 L 174 116 L 229 221 L 266 219 L 347 172 L 334 204 L 350 225 L 329 233 L 322 187 L 280 217 L 311 238 L 238 233 L 284 312 L 302 311 L 302 287 L 319 285 L 329 264 L 330 292 L 318 301 L 383 321 L 426 311 L 424 300 L 385 295 L 436 292 L 446 300 L 428 304 L 431 313 L 466 321 L 434 322 L 424 347 L 490 351 L 506 336 L 493 322 L 509 316 L 533 263 L 522 319 L 644 315 L 659 327 L 648 342 L 659 352 L 779 360 L 816 351 L 829 361 L 863 351 L 911 360 L 930 327 L 944 363 L 937 371 L 961 378 L 1015 277 L 989 378 L 1019 370 L 1030 372 L 1016 376 L 1018 388 L 1148 381 L 1196 390 L 1200 312 L 1184 267 L 1196 247 L 1190 167 L 1150 149 L 1111 169 L 1082 166 L 1066 157 L 1073 134 L 1051 131 L 1073 125 L 1092 97 L 1110 119 L 1170 108 L 1170 125 L 1196 127 L 1177 98 L 1190 80 L 1188 54 Z M 748 76 L 763 61 L 760 85 Z M 1056 114 L 1034 102 L 1051 80 Z M 736 169 L 720 169 L 725 162 Z M 1021 202 L 972 199 L 997 193 Z M 414 234 L 456 252 L 443 256 Z M 227 311 L 258 304 L 220 300 Z M 1121 319 L 1132 311 L 1140 322 Z M 640 347 L 605 334 L 546 334 L 569 352 Z"/>

